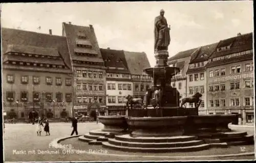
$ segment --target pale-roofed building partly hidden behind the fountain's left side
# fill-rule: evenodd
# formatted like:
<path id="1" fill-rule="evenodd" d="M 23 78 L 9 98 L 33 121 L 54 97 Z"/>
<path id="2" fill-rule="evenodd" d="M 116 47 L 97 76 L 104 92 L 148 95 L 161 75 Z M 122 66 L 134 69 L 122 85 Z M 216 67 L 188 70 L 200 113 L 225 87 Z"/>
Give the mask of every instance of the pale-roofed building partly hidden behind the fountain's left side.
<path id="1" fill-rule="evenodd" d="M 144 99 L 146 90 L 153 85 L 153 79 L 143 73 L 144 68 L 150 67 L 150 62 L 144 52 L 124 51 L 124 56 L 133 82 L 133 97 Z"/>

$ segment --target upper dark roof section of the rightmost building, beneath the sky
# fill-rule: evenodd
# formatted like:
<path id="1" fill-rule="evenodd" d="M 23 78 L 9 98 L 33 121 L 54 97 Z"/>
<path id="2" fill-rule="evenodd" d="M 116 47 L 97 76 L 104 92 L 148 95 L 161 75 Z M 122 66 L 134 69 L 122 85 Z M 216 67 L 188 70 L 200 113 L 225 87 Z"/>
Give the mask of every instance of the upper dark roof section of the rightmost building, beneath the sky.
<path id="1" fill-rule="evenodd" d="M 229 55 L 232 53 L 239 53 L 239 52 L 251 50 L 253 46 L 252 37 L 253 37 L 252 33 L 248 33 L 248 34 L 240 35 L 237 37 L 221 40 L 217 48 L 221 48 L 231 43 L 230 49 L 225 51 L 220 51 L 220 52 L 217 52 L 217 50 L 215 50 L 215 52 L 212 53 L 212 55 L 209 58 L 216 58 L 216 57 Z"/>

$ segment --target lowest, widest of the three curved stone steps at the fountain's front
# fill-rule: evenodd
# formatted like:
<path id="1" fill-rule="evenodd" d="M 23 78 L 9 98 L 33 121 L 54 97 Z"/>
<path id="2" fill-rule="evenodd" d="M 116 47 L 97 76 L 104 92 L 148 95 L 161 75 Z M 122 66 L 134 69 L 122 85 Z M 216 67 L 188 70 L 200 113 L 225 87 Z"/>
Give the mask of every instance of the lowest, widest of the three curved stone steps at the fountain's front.
<path id="1" fill-rule="evenodd" d="M 189 147 L 175 147 L 175 148 L 138 148 L 138 147 L 125 147 L 125 146 L 116 146 L 110 144 L 109 142 L 102 142 L 102 147 L 120 150 L 125 152 L 192 152 L 192 151 L 201 151 L 210 148 L 209 144 L 202 144 L 197 146 L 189 146 Z"/>

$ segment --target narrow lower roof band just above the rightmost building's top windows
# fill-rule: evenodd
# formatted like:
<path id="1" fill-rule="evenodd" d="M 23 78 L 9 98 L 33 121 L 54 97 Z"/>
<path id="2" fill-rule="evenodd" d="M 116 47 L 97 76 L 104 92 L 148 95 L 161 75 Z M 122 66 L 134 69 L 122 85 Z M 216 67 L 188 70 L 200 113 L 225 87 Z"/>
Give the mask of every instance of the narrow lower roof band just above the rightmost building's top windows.
<path id="1" fill-rule="evenodd" d="M 246 61 L 246 60 L 252 60 L 253 59 L 253 54 L 245 54 L 239 57 L 233 57 L 229 59 L 224 59 L 224 60 L 218 60 L 218 61 L 213 61 L 208 64 L 206 64 L 206 67 L 214 67 L 218 65 L 223 65 L 223 64 L 229 64 L 229 63 L 234 63 L 234 62 L 241 62 L 241 61 Z"/>

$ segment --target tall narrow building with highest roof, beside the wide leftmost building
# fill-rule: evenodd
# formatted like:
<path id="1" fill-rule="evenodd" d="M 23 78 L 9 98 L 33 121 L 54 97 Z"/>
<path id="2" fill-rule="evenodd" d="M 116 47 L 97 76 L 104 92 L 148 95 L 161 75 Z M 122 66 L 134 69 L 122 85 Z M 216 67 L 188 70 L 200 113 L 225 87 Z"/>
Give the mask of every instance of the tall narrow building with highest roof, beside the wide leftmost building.
<path id="1" fill-rule="evenodd" d="M 74 74 L 74 111 L 92 116 L 96 111 L 103 114 L 106 72 L 93 26 L 63 22 L 62 35 L 67 38 Z"/>

